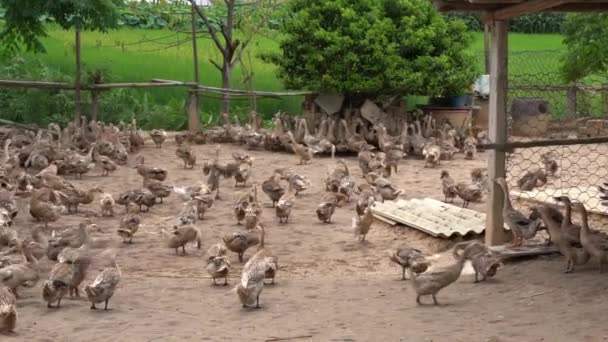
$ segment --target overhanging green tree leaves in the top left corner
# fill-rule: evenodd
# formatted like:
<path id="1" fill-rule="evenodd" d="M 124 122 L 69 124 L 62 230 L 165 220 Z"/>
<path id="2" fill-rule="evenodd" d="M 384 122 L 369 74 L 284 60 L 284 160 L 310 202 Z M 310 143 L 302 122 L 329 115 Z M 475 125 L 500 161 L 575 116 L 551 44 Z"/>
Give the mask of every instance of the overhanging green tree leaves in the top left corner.
<path id="1" fill-rule="evenodd" d="M 1 49 L 9 54 L 21 46 L 45 51 L 40 39 L 47 36 L 42 19 L 48 17 L 64 29 L 106 31 L 117 26 L 120 4 L 122 0 L 0 0 L 6 11 Z"/>

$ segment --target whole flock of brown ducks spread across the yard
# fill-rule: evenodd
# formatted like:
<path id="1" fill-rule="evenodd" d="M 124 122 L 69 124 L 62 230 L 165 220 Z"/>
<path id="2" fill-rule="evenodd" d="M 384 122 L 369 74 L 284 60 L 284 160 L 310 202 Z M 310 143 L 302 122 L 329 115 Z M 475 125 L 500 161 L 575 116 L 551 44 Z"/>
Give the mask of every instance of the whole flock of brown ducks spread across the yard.
<path id="1" fill-rule="evenodd" d="M 315 127 L 314 134 L 310 133 L 305 119 L 284 114 L 275 116 L 270 130 L 261 127 L 255 112 L 251 113 L 245 126 L 238 122 L 232 124 L 226 114 L 221 118 L 221 126 L 174 135 L 175 156 L 183 167 L 201 169 L 207 177 L 206 182 L 186 187 L 165 183 L 168 171 L 147 165 L 143 156 L 129 158 L 144 147 L 147 140 L 135 121 L 118 125 L 95 121 L 80 125 L 70 123 L 63 129 L 50 124 L 47 129 L 36 132 L 4 130 L 4 158 L 0 161 L 0 332 L 15 330 L 19 290 L 34 287 L 39 281 L 43 281 L 41 298 L 49 308 L 60 308 L 65 296 L 80 297 L 83 290 L 91 309 L 97 309 L 98 305 L 108 309 L 122 275 L 117 255 L 137 239 L 142 217 L 154 206 L 163 205 L 172 194 L 183 205 L 175 213 L 172 227 L 162 231 L 167 247 L 174 250 L 175 255 L 188 253 L 187 247 L 191 244 L 200 249 L 202 238 L 198 222 L 205 220 L 206 211 L 216 201 L 223 200 L 221 181 L 229 179 L 234 180 L 235 187 L 243 189 L 236 196 L 233 207 L 235 220 L 243 229 L 224 235 L 209 248 L 206 270 L 213 285 L 228 285 L 229 252 L 236 254 L 238 262 L 244 266 L 240 281 L 233 288 L 235 297 L 243 307 L 260 308 L 264 287 L 275 283 L 280 270 L 277 255 L 265 244 L 261 193 L 274 208 L 279 223 L 289 224 L 292 211 L 298 207 L 298 196 L 311 185 L 306 177 L 294 171 L 298 165 L 314 162 L 319 154 L 331 154 L 333 159 L 336 153 L 356 153 L 364 176 L 362 181 L 357 182 L 344 160 L 336 159 L 326 171 L 326 193 L 315 214 L 319 221 L 330 223 L 338 208 L 354 202 L 353 234 L 365 243 L 374 223 L 372 208 L 375 203 L 395 200 L 402 193 L 390 178 L 398 172 L 403 158 L 418 157 L 424 160 L 426 167 L 439 166 L 441 160 L 451 159 L 455 153 L 476 158 L 477 146 L 486 142 L 487 136 L 470 122 L 462 128 L 454 128 L 449 122 L 437 127 L 430 116 L 419 116 L 413 123 L 404 123 L 396 136 L 390 135 L 382 124 L 371 125 L 360 117 L 349 120 L 325 118 Z M 163 148 L 168 137 L 165 131 L 155 129 L 147 134 L 156 148 Z M 192 145 L 205 143 L 217 144 L 215 153 L 205 162 L 197 163 Z M 223 162 L 221 144 L 227 143 L 243 148 L 232 154 L 231 161 Z M 259 193 L 258 184 L 251 181 L 254 158 L 247 151 L 252 149 L 293 152 L 299 157 L 299 163 L 292 167 L 277 167 L 260 184 Z M 70 178 L 86 180 L 92 170 L 108 176 L 118 168 L 128 167 L 130 159 L 133 159 L 130 166 L 133 172 L 142 178 L 141 187 L 109 194 L 99 187 L 85 189 L 69 181 Z M 522 184 L 538 186 L 547 174 L 554 174 L 556 170 L 551 161 L 550 156 L 546 156 L 544 169 L 531 172 Z M 472 170 L 470 182 L 457 183 L 447 171 L 441 171 L 439 178 L 445 201 L 453 202 L 458 197 L 462 199 L 463 207 L 471 201 L 481 201 L 489 186 L 484 169 Z M 507 183 L 503 179 L 495 181 L 504 191 L 504 217 L 513 232 L 514 245 L 523 244 L 545 228 L 551 243 L 566 256 L 567 272 L 591 257 L 598 258 L 603 270 L 608 240 L 604 234 L 589 229 L 584 206 L 560 197 L 556 200 L 565 204 L 565 214 L 558 207 L 543 205 L 524 215 L 511 205 Z M 20 203 L 26 205 L 20 207 L 16 198 L 25 198 Z M 93 206 L 98 206 L 99 210 L 92 209 Z M 572 209 L 582 213 L 581 225 L 572 223 Z M 14 224 L 14 219 L 28 213 L 38 223 L 24 236 L 26 234 Z M 87 218 L 73 229 L 54 228 L 64 215 L 71 213 L 85 214 Z M 90 236 L 97 227 L 94 218 L 115 215 L 121 218 L 116 234 L 122 243 L 111 244 Z M 253 247 L 257 248 L 256 252 L 246 260 L 245 252 Z M 494 276 L 502 264 L 497 255 L 478 241 L 455 244 L 452 255 L 455 260 L 449 265 L 433 265 L 433 257 L 404 246 L 392 251 L 389 259 L 402 267 L 403 279 L 411 279 L 419 304 L 423 296 L 431 296 L 437 304 L 437 293 L 458 279 L 466 260 L 473 265 L 476 281 Z M 50 269 L 43 269 L 39 263 L 45 257 L 52 262 Z M 101 261 L 107 267 L 82 287 L 94 261 Z M 41 279 L 46 274 L 47 279 Z"/>

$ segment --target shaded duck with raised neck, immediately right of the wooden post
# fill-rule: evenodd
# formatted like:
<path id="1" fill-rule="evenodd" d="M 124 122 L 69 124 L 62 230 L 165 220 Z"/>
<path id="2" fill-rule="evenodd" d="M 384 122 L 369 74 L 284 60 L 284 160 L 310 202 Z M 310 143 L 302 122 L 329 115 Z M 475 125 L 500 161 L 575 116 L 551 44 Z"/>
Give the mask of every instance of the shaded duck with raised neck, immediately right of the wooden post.
<path id="1" fill-rule="evenodd" d="M 504 203 L 502 214 L 505 222 L 511 229 L 511 232 L 513 232 L 513 246 L 521 246 L 524 239 L 528 240 L 536 235 L 536 231 L 540 226 L 540 220 L 530 220 L 530 218 L 522 212 L 513 208 L 509 196 L 509 187 L 504 178 L 496 178 L 494 182 L 500 186 L 503 192 Z"/>

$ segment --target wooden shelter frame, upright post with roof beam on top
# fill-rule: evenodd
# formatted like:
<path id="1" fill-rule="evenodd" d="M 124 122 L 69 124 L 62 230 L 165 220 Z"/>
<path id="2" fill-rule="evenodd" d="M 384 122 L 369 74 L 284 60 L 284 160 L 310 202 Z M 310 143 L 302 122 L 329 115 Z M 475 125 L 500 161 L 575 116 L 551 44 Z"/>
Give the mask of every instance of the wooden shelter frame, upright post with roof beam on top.
<path id="1" fill-rule="evenodd" d="M 508 21 L 521 15 L 538 12 L 607 12 L 608 0 L 432 0 L 442 12 L 481 12 L 491 29 L 489 138 L 492 142 L 488 175 L 491 179 L 505 177 L 506 152 L 517 143 L 507 142 Z M 580 141 L 573 144 L 580 144 Z M 488 198 L 486 244 L 505 241 L 502 217 L 503 198 L 494 184 Z"/>

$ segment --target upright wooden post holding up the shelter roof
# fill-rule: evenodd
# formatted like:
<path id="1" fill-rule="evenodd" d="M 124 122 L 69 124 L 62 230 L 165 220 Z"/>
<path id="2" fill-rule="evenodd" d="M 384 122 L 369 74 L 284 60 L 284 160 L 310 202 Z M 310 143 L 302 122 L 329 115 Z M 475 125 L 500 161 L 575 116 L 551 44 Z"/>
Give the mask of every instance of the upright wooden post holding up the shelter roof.
<path id="1" fill-rule="evenodd" d="M 489 136 L 496 144 L 507 142 L 507 73 L 508 73 L 508 22 L 492 22 L 490 46 L 490 98 Z M 505 177 L 505 152 L 491 150 L 488 158 L 490 180 Z M 491 182 L 486 216 L 486 244 L 505 242 L 502 217 L 503 194 L 498 185 Z"/>

